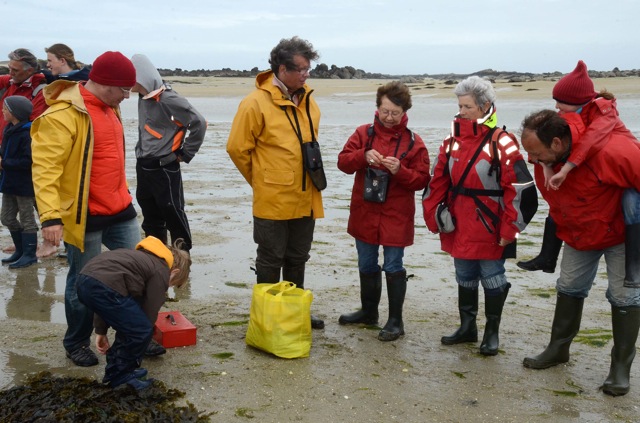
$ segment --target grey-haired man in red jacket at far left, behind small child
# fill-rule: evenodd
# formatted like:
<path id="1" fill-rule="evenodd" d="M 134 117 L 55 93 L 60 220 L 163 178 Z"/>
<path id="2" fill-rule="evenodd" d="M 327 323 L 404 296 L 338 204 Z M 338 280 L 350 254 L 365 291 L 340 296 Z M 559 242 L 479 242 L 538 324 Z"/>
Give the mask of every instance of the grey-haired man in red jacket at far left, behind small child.
<path id="1" fill-rule="evenodd" d="M 44 75 L 40 72 L 38 59 L 26 48 L 19 48 L 9 53 L 9 75 L 0 76 L 0 104 L 12 95 L 26 97 L 33 104 L 30 120 L 38 117 L 47 108 L 42 96 L 42 88 L 46 84 Z M 0 114 L 0 134 L 7 122 Z"/>

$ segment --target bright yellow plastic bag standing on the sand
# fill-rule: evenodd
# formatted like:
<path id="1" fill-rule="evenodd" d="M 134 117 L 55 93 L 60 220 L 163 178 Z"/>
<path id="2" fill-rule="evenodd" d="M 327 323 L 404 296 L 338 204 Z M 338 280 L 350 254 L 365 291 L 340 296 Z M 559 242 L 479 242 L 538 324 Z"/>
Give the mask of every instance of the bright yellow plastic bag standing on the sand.
<path id="1" fill-rule="evenodd" d="M 282 358 L 309 357 L 311 291 L 291 282 L 253 286 L 247 345 Z"/>

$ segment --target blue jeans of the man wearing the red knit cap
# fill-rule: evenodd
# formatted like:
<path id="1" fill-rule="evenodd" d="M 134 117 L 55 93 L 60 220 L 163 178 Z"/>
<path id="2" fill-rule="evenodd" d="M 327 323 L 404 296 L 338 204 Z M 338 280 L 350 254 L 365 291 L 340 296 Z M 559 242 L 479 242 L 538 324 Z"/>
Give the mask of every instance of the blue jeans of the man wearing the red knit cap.
<path id="1" fill-rule="evenodd" d="M 102 244 L 108 249 L 135 248 L 140 242 L 140 227 L 137 219 L 120 222 L 102 231 L 87 232 L 84 235 L 84 253 L 75 245 L 65 242 L 69 272 L 64 291 L 64 311 L 67 318 L 67 332 L 62 344 L 71 352 L 80 347 L 88 347 L 93 331 L 93 311 L 78 301 L 76 279 L 85 264 L 102 252 Z"/>

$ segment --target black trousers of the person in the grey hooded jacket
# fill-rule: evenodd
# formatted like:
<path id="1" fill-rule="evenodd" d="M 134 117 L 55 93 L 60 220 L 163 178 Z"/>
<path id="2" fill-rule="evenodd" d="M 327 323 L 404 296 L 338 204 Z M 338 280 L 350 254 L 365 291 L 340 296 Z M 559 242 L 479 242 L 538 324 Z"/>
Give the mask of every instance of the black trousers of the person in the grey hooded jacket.
<path id="1" fill-rule="evenodd" d="M 142 230 L 167 243 L 167 231 L 171 242 L 182 238 L 184 249 L 191 250 L 191 230 L 184 211 L 184 191 L 180 163 L 166 166 L 136 163 L 136 200 L 142 209 Z"/>

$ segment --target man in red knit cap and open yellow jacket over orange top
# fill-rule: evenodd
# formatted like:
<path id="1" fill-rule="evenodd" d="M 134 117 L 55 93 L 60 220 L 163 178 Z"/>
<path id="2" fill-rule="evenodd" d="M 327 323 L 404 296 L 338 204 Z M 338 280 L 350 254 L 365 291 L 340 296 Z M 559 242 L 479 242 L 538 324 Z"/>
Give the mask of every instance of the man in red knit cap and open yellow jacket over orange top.
<path id="1" fill-rule="evenodd" d="M 48 85 L 49 108 L 31 128 L 42 236 L 55 246 L 64 236 L 67 247 L 63 345 L 78 366 L 98 364 L 89 348 L 93 312 L 78 300 L 78 273 L 103 244 L 113 250 L 134 248 L 140 241 L 125 175 L 119 107 L 135 83 L 131 61 L 108 51 L 94 61 L 85 84 L 58 80 Z"/>

